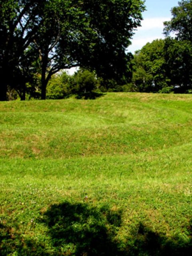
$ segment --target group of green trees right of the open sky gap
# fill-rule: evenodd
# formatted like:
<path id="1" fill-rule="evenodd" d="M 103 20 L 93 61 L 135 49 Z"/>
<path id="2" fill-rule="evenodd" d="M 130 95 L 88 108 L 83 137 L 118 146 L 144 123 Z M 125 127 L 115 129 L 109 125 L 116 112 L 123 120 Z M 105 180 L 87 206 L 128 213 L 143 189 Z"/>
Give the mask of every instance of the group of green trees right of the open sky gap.
<path id="1" fill-rule="evenodd" d="M 134 90 L 192 90 L 192 0 L 178 2 L 171 13 L 171 20 L 164 22 L 165 40 L 154 40 L 134 55 Z"/>

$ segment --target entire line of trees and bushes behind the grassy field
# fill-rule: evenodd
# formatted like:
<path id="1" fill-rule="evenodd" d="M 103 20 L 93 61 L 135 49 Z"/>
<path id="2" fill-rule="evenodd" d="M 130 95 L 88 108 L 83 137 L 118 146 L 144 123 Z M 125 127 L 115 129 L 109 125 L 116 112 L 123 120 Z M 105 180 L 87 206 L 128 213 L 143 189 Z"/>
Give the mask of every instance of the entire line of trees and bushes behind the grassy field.
<path id="1" fill-rule="evenodd" d="M 192 0 L 134 56 L 142 0 L 0 0 L 0 100 L 192 92 Z M 81 67 L 69 76 L 64 69 Z"/>

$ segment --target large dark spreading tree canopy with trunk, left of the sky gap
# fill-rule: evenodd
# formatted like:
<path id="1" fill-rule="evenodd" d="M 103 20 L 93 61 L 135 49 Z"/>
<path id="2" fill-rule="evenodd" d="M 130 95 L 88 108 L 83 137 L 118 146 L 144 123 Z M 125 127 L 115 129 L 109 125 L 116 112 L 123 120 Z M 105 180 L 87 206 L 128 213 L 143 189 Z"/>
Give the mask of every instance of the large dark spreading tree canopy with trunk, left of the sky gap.
<path id="1" fill-rule="evenodd" d="M 115 79 L 128 74 L 126 48 L 143 10 L 142 0 L 0 0 L 0 100 L 28 47 L 38 52 L 42 99 L 62 68 L 82 66 Z"/>

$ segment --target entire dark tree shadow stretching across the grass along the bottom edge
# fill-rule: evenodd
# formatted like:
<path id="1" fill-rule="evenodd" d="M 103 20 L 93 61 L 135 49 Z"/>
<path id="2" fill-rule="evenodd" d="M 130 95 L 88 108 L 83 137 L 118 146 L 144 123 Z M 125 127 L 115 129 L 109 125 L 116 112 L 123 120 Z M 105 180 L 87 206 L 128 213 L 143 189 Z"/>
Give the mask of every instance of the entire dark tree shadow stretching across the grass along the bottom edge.
<path id="1" fill-rule="evenodd" d="M 54 204 L 42 214 L 39 222 L 48 230 L 47 237 L 41 241 L 26 240 L 22 234 L 13 234 L 11 228 L 1 225 L 0 255 L 190 256 L 192 252 L 192 223 L 188 227 L 188 238 L 167 238 L 138 224 L 137 234 L 126 242 L 116 239 L 122 213 L 107 206 Z"/>

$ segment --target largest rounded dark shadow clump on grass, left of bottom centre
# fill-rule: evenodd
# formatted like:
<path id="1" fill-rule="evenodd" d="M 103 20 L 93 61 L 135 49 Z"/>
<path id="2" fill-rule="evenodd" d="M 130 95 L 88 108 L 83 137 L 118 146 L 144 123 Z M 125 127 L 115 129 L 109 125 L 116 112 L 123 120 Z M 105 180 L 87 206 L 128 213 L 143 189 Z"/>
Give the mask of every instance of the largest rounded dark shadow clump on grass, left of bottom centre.
<path id="1" fill-rule="evenodd" d="M 53 246 L 61 248 L 67 245 L 68 255 L 122 255 L 115 241 L 116 228 L 121 225 L 118 211 L 106 207 L 98 210 L 86 203 L 64 202 L 52 205 L 43 219 L 48 225 Z"/>

